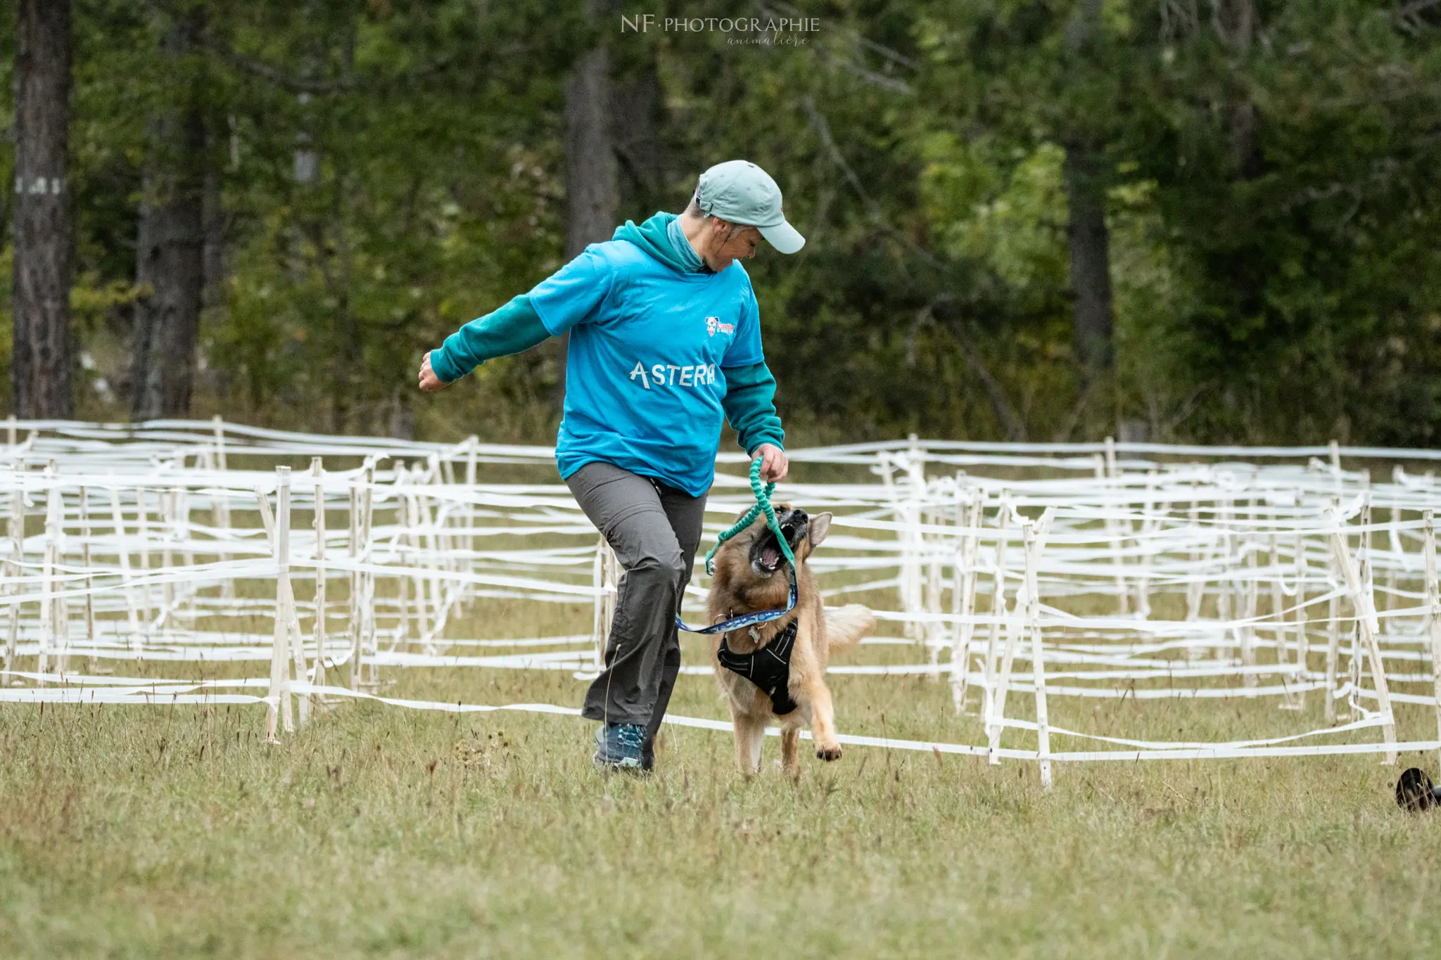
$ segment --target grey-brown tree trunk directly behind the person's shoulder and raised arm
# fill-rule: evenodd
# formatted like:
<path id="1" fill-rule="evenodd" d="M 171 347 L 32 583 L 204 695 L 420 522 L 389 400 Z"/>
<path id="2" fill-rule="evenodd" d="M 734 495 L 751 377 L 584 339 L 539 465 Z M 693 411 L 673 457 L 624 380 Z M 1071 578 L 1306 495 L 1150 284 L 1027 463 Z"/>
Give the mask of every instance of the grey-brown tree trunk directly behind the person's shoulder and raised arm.
<path id="1" fill-rule="evenodd" d="M 592 22 L 602 20 L 608 0 L 592 0 Z M 604 30 L 604 24 L 601 24 Z M 615 163 L 615 124 L 611 115 L 611 55 L 604 40 L 575 63 L 565 85 L 565 259 L 581 255 L 589 243 L 611 239 L 620 204 L 620 168 Z M 561 340 L 556 406 L 565 404 L 565 353 Z"/>

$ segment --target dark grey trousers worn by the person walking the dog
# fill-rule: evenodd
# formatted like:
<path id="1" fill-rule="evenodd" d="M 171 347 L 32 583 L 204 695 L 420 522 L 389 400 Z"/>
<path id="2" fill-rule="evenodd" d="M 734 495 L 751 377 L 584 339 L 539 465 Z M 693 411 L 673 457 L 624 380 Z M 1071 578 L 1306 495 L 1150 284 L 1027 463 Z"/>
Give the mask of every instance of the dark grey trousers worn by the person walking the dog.
<path id="1" fill-rule="evenodd" d="M 644 725 L 648 753 L 680 672 L 676 613 L 700 543 L 706 495 L 601 462 L 586 463 L 566 484 L 625 570 L 605 669 L 586 691 L 581 715 Z"/>

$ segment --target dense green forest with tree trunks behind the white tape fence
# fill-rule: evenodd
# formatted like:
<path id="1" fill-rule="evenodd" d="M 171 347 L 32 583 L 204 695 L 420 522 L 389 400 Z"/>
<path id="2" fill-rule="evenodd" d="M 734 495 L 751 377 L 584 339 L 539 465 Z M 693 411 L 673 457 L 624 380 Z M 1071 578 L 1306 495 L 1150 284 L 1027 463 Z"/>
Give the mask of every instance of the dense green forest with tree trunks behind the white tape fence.
<path id="1" fill-rule="evenodd" d="M 549 442 L 562 344 L 437 397 L 421 354 L 744 157 L 807 237 L 746 262 L 791 443 L 1425 446 L 1438 39 L 1441 0 L 17 0 L 0 413 Z"/>

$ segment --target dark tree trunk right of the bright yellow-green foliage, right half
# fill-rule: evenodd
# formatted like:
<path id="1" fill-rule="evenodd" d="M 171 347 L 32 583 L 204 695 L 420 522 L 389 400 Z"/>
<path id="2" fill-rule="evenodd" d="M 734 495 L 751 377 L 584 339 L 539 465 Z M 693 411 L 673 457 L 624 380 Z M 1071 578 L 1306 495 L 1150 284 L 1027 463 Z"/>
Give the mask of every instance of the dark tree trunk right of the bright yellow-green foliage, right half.
<path id="1" fill-rule="evenodd" d="M 1072 344 L 1085 383 L 1111 368 L 1111 236 L 1105 227 L 1105 186 L 1095 148 L 1066 144 L 1065 180 L 1069 219 Z"/>

